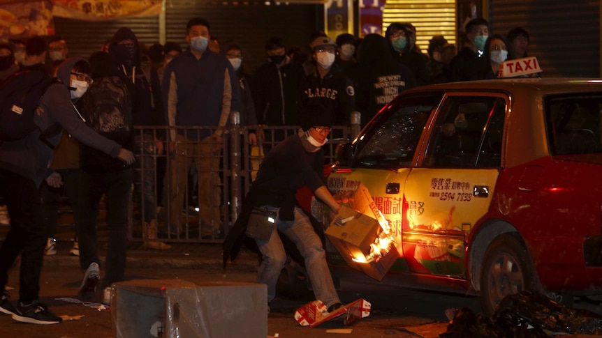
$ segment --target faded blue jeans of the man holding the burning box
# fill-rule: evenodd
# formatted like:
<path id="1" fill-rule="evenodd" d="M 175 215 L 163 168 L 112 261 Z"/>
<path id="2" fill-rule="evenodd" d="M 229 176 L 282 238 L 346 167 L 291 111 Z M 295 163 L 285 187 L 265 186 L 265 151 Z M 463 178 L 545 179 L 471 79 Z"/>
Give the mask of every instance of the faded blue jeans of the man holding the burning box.
<path id="1" fill-rule="evenodd" d="M 279 208 L 272 207 L 267 207 L 267 209 L 279 210 Z M 286 252 L 277 229 L 290 238 L 301 252 L 316 299 L 321 300 L 329 307 L 340 302 L 326 263 L 326 252 L 322 241 L 311 226 L 307 215 L 298 207 L 295 207 L 295 220 L 281 221 L 279 217 L 276 218 L 276 226 L 269 240 L 256 239 L 257 246 L 263 254 L 257 282 L 267 284 L 267 302 L 271 302 L 276 296 L 276 282 L 286 263 Z"/>

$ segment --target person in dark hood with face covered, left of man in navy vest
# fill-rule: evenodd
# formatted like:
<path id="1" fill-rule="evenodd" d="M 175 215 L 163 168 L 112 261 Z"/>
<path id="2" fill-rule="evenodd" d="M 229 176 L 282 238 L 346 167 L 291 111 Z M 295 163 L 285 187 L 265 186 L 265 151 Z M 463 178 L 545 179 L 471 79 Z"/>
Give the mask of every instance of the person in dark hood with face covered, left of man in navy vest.
<path id="1" fill-rule="evenodd" d="M 119 69 L 131 94 L 133 125 L 166 125 L 159 75 L 154 68 L 147 68 L 147 72 L 150 72 L 150 74 L 147 74 L 140 67 L 140 44 L 131 29 L 122 27 L 117 30 L 111 39 L 109 54 L 115 60 L 115 63 L 117 63 L 117 69 Z M 148 79 L 150 79 L 150 82 Z M 152 129 L 135 132 L 133 141 L 134 153 L 142 154 L 140 160 L 136 162 L 137 169 L 155 167 L 153 155 L 155 153 L 163 153 L 162 139 L 165 139 L 163 132 L 154 133 Z M 142 196 L 142 203 L 144 203 L 142 222 L 143 224 L 148 224 L 144 229 L 145 236 L 156 238 L 155 178 L 152 175 L 142 176 L 140 174 L 141 170 L 136 170 L 135 172 L 137 173 L 135 180 L 140 183 L 140 185 L 137 184 L 135 187 L 140 187 L 142 190 L 142 192 L 138 192 L 137 190 L 137 194 Z M 166 249 L 168 245 L 153 246 L 150 248 Z"/>

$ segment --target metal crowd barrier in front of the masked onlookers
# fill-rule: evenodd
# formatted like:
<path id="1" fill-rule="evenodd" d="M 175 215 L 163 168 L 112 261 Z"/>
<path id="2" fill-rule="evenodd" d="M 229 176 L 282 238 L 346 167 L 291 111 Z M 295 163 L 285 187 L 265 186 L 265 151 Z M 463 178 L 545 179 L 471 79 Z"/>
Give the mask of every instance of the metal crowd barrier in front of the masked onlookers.
<path id="1" fill-rule="evenodd" d="M 351 126 L 334 126 L 329 135 L 330 141 L 325 146 L 325 164 L 333 162 L 335 159 L 336 148 L 339 144 L 345 141 L 350 141 L 358 135 L 360 131 L 359 113 L 355 118 L 352 118 Z M 203 143 L 203 138 L 199 136 L 199 132 L 206 131 L 216 132 L 216 128 L 210 127 L 186 127 L 186 128 L 163 128 L 153 126 L 136 126 L 135 132 L 137 135 L 152 135 L 153 139 L 165 135 L 167 132 L 172 134 L 185 134 L 186 137 L 178 143 L 178 146 L 184 148 L 193 148 L 198 144 Z M 228 233 L 228 229 L 235 222 L 242 201 L 245 195 L 249 192 L 251 182 L 254 180 L 260 162 L 263 160 L 265 153 L 270 148 L 274 147 L 281 139 L 295 135 L 298 133 L 298 126 L 267 126 L 267 125 L 240 125 L 240 118 L 237 114 L 233 115 L 230 120 L 230 125 L 222 130 L 221 143 L 212 143 L 212 154 L 202 153 L 186 153 L 186 158 L 193 162 L 193 168 L 189 168 L 189 175 L 186 177 L 186 189 L 178 191 L 183 194 L 182 208 L 169 208 L 169 193 L 174 188 L 172 182 L 168 180 L 168 175 L 172 168 L 172 153 L 169 151 L 169 145 L 164 144 L 166 149 L 163 153 L 145 152 L 135 153 L 136 174 L 139 179 L 135 180 L 135 188 L 133 190 L 133 217 L 131 227 L 129 229 L 129 238 L 131 240 L 141 240 L 142 231 L 142 215 L 145 215 L 145 208 L 152 208 L 152 204 L 147 206 L 144 203 L 142 182 L 152 178 L 154 182 L 153 195 L 156 201 L 156 224 L 159 238 L 163 238 L 166 242 L 221 242 L 223 237 Z M 249 134 L 255 133 L 258 137 L 258 144 L 251 146 L 249 144 Z M 221 151 L 219 151 L 221 149 Z M 199 166 L 210 156 L 214 162 L 219 161 L 219 167 L 207 168 Z M 151 160 L 149 160 L 149 158 Z M 162 164 L 165 164 L 165 170 L 162 170 Z M 142 165 L 140 165 L 142 164 Z M 147 164 L 146 166 L 143 164 Z M 149 164 L 149 165 L 148 165 Z M 159 168 L 159 170 L 158 170 Z M 196 170 L 195 170 L 196 169 Z M 215 177 L 219 179 L 212 180 L 210 191 L 201 189 L 198 184 L 200 176 L 218 174 Z M 161 177 L 163 175 L 163 178 Z M 183 178 L 182 178 L 183 179 Z M 164 182 L 162 185 L 161 182 Z M 207 196 L 220 192 L 219 205 L 219 221 L 207 220 L 203 208 L 207 208 Z M 209 208 L 212 208 L 210 206 Z M 173 215 L 174 211 L 181 215 Z M 179 218 L 180 226 L 178 227 L 177 220 Z M 218 223 L 219 222 L 219 223 Z M 207 231 L 207 228 L 214 227 L 216 231 Z"/>

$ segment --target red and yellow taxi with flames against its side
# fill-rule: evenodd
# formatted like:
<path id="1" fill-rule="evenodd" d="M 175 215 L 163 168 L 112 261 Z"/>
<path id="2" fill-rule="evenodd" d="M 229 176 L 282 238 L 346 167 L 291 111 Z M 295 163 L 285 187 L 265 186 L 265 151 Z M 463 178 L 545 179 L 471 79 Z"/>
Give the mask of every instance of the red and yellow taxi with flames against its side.
<path id="1" fill-rule="evenodd" d="M 328 188 L 360 185 L 399 255 L 389 281 L 473 292 L 485 314 L 525 289 L 602 293 L 601 79 L 404 91 L 339 147 Z"/>

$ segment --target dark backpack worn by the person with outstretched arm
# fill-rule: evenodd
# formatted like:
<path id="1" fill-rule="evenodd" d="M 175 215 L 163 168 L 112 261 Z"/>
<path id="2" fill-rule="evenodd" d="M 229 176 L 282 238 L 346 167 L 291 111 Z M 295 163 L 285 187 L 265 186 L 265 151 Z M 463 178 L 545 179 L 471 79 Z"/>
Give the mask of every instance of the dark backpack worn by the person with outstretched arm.
<path id="1" fill-rule="evenodd" d="M 22 70 L 0 84 L 0 142 L 22 139 L 38 128 L 36 108 L 53 81 L 41 70 Z"/>

